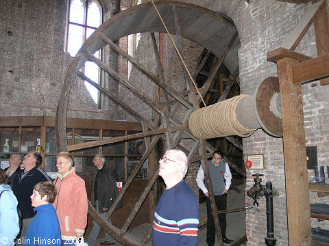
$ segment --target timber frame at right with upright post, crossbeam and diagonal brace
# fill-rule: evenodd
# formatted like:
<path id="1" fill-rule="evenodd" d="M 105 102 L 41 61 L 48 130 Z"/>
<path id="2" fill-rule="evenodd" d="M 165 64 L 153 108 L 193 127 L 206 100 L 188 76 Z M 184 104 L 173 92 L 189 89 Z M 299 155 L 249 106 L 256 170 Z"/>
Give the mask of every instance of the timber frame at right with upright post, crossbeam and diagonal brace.
<path id="1" fill-rule="evenodd" d="M 294 50 L 314 23 L 318 57 L 311 58 Z M 311 245 L 310 203 L 306 167 L 306 141 L 301 83 L 319 80 L 329 83 L 328 0 L 313 5 L 295 27 L 284 45 L 269 51 L 267 58 L 278 65 L 284 168 L 286 175 L 289 245 Z M 302 195 L 300 195 L 302 194 Z"/>

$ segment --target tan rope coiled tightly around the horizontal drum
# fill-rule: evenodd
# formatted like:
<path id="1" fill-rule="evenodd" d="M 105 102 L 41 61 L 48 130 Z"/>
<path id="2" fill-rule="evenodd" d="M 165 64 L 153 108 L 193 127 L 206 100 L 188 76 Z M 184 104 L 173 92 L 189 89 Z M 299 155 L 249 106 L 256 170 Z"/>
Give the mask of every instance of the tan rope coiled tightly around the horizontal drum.
<path id="1" fill-rule="evenodd" d="M 256 129 L 245 128 L 236 117 L 236 107 L 248 95 L 234 96 L 191 113 L 188 128 L 199 139 L 238 135 L 249 137 Z"/>

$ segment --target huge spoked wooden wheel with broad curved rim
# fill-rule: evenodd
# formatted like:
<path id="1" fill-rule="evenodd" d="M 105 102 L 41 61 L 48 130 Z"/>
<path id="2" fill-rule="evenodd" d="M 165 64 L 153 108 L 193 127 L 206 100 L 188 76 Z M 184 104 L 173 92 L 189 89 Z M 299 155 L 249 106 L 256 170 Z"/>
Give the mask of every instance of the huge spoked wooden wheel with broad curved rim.
<path id="1" fill-rule="evenodd" d="M 178 46 L 180 48 L 180 54 L 184 58 L 184 47 L 182 46 L 182 38 L 191 40 L 196 44 L 203 46 L 208 50 L 208 53 L 212 53 L 217 57 L 212 72 L 210 72 L 206 83 L 204 83 L 201 94 L 204 96 L 210 85 L 212 84 L 213 79 L 216 77 L 216 74 L 221 68 L 222 64 L 228 68 L 228 70 L 234 74 L 234 71 L 237 70 L 238 60 L 237 60 L 237 49 L 239 49 L 239 38 L 237 38 L 236 28 L 232 23 L 232 20 L 218 14 L 202 8 L 197 5 L 191 5 L 188 3 L 175 2 L 175 1 L 158 1 L 155 3 L 156 8 L 160 12 L 164 23 L 167 25 L 169 33 L 175 34 L 176 39 L 178 40 Z M 185 150 L 188 154 L 188 159 L 191 162 L 193 161 L 202 161 L 204 166 L 206 177 L 208 174 L 208 166 L 204 165 L 207 163 L 207 158 L 211 156 L 210 152 L 215 150 L 209 143 L 206 143 L 205 140 L 199 140 L 193 137 L 190 131 L 188 131 L 188 116 L 199 109 L 199 103 L 201 101 L 199 95 L 196 93 L 191 80 L 186 77 L 186 89 L 184 92 L 178 92 L 173 87 L 169 86 L 168 83 L 164 81 L 164 73 L 160 65 L 160 55 L 156 46 L 156 38 L 154 38 L 154 32 L 165 32 L 164 26 L 162 25 L 160 18 L 156 12 L 156 8 L 151 3 L 143 3 L 137 5 L 134 8 L 130 8 L 123 12 L 119 12 L 112 18 L 103 23 L 91 36 L 86 40 L 86 42 L 81 47 L 80 51 L 74 57 L 71 62 L 71 66 L 66 73 L 66 78 L 62 86 L 62 92 L 60 99 L 58 101 L 58 111 L 56 113 L 56 140 L 58 145 L 58 150 L 73 151 L 83 148 L 88 148 L 91 146 L 102 146 L 104 144 L 116 143 L 119 141 L 127 141 L 130 139 L 136 139 L 141 137 L 152 137 L 151 141 L 147 143 L 147 151 L 143 154 L 141 161 L 138 163 L 136 169 L 127 180 L 125 187 L 121 191 L 119 197 L 114 202 L 112 208 L 110 209 L 107 217 L 110 217 L 114 211 L 114 208 L 117 206 L 119 200 L 127 191 L 127 188 L 132 183 L 134 176 L 137 174 L 138 170 L 142 167 L 143 163 L 156 146 L 156 143 L 159 139 L 164 139 L 167 148 L 177 148 Z M 157 72 L 152 72 L 151 69 L 146 68 L 136 59 L 127 55 L 117 44 L 116 40 L 127 36 L 132 33 L 151 33 L 151 40 L 154 44 L 154 52 L 156 60 L 154 61 L 154 67 L 157 68 Z M 139 90 L 135 85 L 134 81 L 127 81 L 123 78 L 119 72 L 111 68 L 110 65 L 104 63 L 103 61 L 97 59 L 93 54 L 100 49 L 103 49 L 105 46 L 109 46 L 110 49 L 113 49 L 122 57 L 125 57 L 130 63 L 132 63 L 135 68 L 143 72 L 151 81 L 154 82 L 154 86 L 158 86 L 162 93 L 166 96 L 164 98 L 168 99 L 167 105 L 171 106 L 162 106 L 158 100 L 151 98 L 142 90 Z M 206 55 L 207 57 L 207 55 Z M 204 58 L 206 59 L 206 58 Z M 84 65 L 86 61 L 93 61 L 97 66 L 99 66 L 106 73 L 110 74 L 112 78 L 117 80 L 121 85 L 126 87 L 134 96 L 140 98 L 148 105 L 152 110 L 157 112 L 161 117 L 160 126 L 154 124 L 147 118 L 143 117 L 140 113 L 131 109 L 126 102 L 118 98 L 112 92 L 104 89 L 103 87 L 97 85 L 94 81 L 91 81 L 89 78 L 85 77 L 80 68 Z M 201 70 L 205 61 L 200 62 L 200 66 L 197 68 L 194 77 Z M 158 74 L 158 75 L 157 75 Z M 112 102 L 116 103 L 125 111 L 129 112 L 136 120 L 141 121 L 143 126 L 143 133 L 138 133 L 134 135 L 128 135 L 125 137 L 115 137 L 111 139 L 106 139 L 102 141 L 93 141 L 83 144 L 77 144 L 74 146 L 67 146 L 66 141 L 66 105 L 68 102 L 69 90 L 71 88 L 71 83 L 75 77 L 78 76 L 84 81 L 88 81 L 97 89 L 107 96 Z M 234 81 L 232 82 L 234 83 Z M 228 94 L 232 83 L 228 83 L 226 90 L 223 93 L 223 96 L 219 100 L 225 100 L 225 94 Z M 227 92 L 226 92 L 227 91 Z M 171 103 L 169 103 L 171 102 Z M 178 110 L 179 109 L 179 110 Z M 178 113 L 180 112 L 180 113 Z M 183 113 L 182 113 L 183 112 Z M 185 149 L 181 143 L 182 138 L 184 140 L 188 139 L 191 146 Z M 241 149 L 241 145 L 237 143 L 234 138 L 227 137 L 228 141 L 233 143 L 236 148 Z M 230 163 L 229 160 L 227 160 Z M 230 163 L 231 167 L 244 176 L 241 169 L 236 167 L 233 163 Z M 135 242 L 126 236 L 127 229 L 132 223 L 138 209 L 143 204 L 143 201 L 147 197 L 151 187 L 154 185 L 154 182 L 158 178 L 158 170 L 149 178 L 149 184 L 143 191 L 140 200 L 136 203 L 132 213 L 129 215 L 123 227 L 118 231 L 112 225 L 106 223 L 106 220 L 99 217 L 93 206 L 89 203 L 89 213 L 90 215 L 101 225 L 101 227 L 111 234 L 117 241 L 123 245 L 145 245 L 149 239 L 150 233 L 145 235 L 143 242 Z M 208 179 L 209 180 L 209 179 Z M 211 184 L 210 186 L 211 187 Z M 210 191 L 212 192 L 212 191 Z M 212 202 L 212 204 L 215 204 Z M 215 208 L 215 207 L 214 207 Z M 215 210 L 215 209 L 213 209 Z M 217 217 L 215 217 L 217 218 Z M 217 228 L 219 228 L 218 221 L 215 221 Z M 220 229 L 217 229 L 217 231 Z M 220 233 L 219 233 L 220 234 Z"/>

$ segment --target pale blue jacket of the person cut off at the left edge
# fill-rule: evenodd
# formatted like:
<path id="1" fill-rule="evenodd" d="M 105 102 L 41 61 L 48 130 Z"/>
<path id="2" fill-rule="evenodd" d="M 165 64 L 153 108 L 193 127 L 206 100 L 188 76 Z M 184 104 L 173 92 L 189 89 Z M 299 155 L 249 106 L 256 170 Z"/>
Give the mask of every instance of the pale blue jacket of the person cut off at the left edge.
<path id="1" fill-rule="evenodd" d="M 17 199 L 9 184 L 0 184 L 0 245 L 14 245 L 19 234 L 19 215 L 17 215 Z"/>

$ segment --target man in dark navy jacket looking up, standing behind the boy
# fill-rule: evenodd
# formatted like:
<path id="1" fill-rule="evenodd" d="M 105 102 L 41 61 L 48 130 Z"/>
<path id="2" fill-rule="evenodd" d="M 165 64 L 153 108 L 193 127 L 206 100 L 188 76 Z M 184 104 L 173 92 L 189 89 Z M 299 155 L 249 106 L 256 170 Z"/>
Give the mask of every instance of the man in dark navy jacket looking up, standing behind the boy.
<path id="1" fill-rule="evenodd" d="M 29 152 L 23 159 L 25 168 L 19 170 L 14 178 L 12 190 L 19 201 L 19 208 L 21 209 L 23 218 L 21 237 L 17 239 L 16 245 L 24 244 L 23 239 L 25 238 L 27 228 L 29 228 L 29 223 L 31 223 L 35 215 L 30 198 L 33 193 L 34 185 L 42 181 L 52 182 L 45 171 L 39 168 L 41 163 L 42 157 L 40 154 Z"/>

